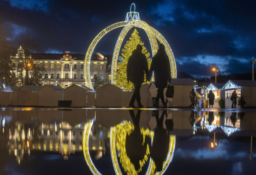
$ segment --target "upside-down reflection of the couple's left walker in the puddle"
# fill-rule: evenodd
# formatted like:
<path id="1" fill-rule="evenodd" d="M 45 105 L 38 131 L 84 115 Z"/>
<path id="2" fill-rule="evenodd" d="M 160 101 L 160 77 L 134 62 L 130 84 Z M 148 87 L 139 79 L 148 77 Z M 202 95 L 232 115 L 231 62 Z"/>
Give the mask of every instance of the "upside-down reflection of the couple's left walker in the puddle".
<path id="1" fill-rule="evenodd" d="M 140 160 L 144 158 L 147 150 L 147 143 L 143 143 L 143 135 L 140 132 L 140 112 L 138 110 L 136 117 L 133 110 L 129 110 L 132 122 L 134 124 L 134 129 L 130 135 L 126 135 L 125 140 L 125 149 L 127 156 L 131 160 L 131 163 L 134 165 L 135 170 L 140 168 Z"/>

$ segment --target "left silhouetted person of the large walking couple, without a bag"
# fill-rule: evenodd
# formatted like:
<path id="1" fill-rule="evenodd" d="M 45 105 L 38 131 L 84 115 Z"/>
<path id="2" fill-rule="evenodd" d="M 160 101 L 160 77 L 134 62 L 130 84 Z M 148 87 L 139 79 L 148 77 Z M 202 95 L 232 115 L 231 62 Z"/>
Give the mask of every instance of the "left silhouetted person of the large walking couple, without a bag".
<path id="1" fill-rule="evenodd" d="M 143 108 L 140 102 L 140 87 L 144 82 L 144 73 L 146 73 L 146 75 L 148 74 L 147 58 L 146 55 L 142 53 L 142 45 L 138 44 L 129 57 L 127 64 L 127 81 L 128 83 L 131 81 L 135 87 L 132 99 L 129 103 L 129 107 L 131 108 L 136 108 L 133 104 L 135 99 L 138 102 L 139 108 Z"/>

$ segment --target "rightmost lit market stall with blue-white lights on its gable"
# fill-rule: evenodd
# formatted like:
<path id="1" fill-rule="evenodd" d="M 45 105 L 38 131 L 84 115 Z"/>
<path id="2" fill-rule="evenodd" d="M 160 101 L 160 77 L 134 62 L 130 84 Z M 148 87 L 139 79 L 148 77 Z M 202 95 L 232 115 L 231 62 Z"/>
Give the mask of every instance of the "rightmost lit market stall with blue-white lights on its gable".
<path id="1" fill-rule="evenodd" d="M 222 90 L 225 90 L 225 108 L 231 107 L 232 102 L 230 100 L 230 96 L 234 90 L 236 90 L 238 97 L 240 97 L 241 95 L 244 97 L 245 107 L 256 107 L 256 81 L 229 80 L 222 87 Z M 237 105 L 237 108 L 239 107 L 240 106 Z"/>

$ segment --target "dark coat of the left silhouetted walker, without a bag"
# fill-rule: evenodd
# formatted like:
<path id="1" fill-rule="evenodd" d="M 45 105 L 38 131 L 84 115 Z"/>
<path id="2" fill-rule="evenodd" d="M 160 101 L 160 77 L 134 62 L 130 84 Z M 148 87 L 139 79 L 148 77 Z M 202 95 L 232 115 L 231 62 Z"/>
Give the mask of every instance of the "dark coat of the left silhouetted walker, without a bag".
<path id="1" fill-rule="evenodd" d="M 128 59 L 127 80 L 131 82 L 143 83 L 144 72 L 148 74 L 147 58 L 142 51 L 135 49 Z"/>

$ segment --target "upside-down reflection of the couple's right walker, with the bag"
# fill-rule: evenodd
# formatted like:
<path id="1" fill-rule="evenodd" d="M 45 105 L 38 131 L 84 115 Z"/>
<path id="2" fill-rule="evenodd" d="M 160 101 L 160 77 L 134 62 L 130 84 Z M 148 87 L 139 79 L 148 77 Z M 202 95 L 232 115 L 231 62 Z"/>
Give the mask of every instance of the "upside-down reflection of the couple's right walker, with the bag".
<path id="1" fill-rule="evenodd" d="M 157 128 L 154 131 L 154 139 L 152 146 L 149 144 L 150 157 L 154 160 L 157 171 L 162 171 L 163 162 L 165 161 L 168 153 L 170 135 L 167 134 L 166 130 L 163 128 L 163 118 L 166 111 L 163 111 L 159 119 L 159 111 L 154 111 L 155 118 L 157 119 Z M 173 130 L 172 119 L 169 119 L 167 123 L 170 122 L 170 126 L 166 126 L 169 130 Z M 169 132 L 169 131 L 168 131 Z"/>

